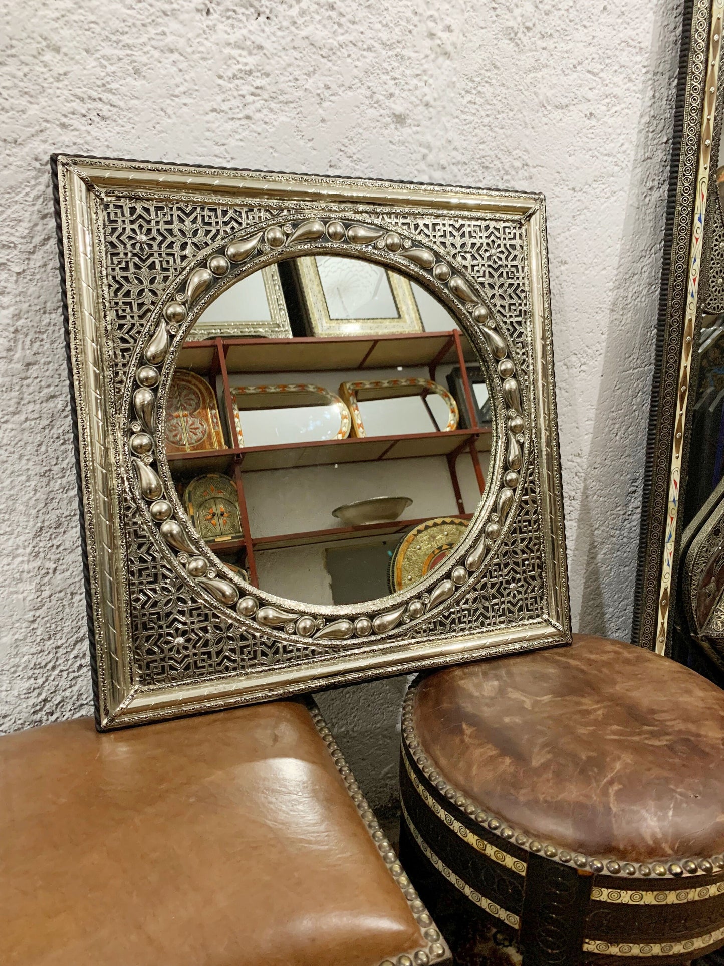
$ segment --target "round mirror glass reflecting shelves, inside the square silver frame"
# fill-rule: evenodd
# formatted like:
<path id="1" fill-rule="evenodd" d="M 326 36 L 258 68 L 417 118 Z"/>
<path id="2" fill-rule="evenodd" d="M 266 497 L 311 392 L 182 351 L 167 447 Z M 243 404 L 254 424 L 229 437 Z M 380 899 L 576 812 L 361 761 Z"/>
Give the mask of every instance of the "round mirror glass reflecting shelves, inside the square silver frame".
<path id="1" fill-rule="evenodd" d="M 480 360 L 396 271 L 326 255 L 272 268 L 284 334 L 259 337 L 266 268 L 209 304 L 177 360 L 166 440 L 183 505 L 221 563 L 269 593 L 319 605 L 406 589 L 485 489 Z"/>

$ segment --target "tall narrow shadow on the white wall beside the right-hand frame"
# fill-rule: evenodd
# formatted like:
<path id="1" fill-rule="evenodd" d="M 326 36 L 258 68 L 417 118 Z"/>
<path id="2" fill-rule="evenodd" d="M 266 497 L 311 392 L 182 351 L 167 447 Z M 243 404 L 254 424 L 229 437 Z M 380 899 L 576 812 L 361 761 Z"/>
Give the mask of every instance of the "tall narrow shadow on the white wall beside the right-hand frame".
<path id="1" fill-rule="evenodd" d="M 591 448 L 571 551 L 571 582 L 577 581 L 580 587 L 578 630 L 622 639 L 630 639 L 681 40 L 679 5 L 656 5 L 655 11 Z M 662 144 L 667 146 L 664 157 Z M 622 476 L 623 468 L 629 468 L 628 476 Z M 602 547 L 608 549 L 605 556 L 599 551 Z"/>

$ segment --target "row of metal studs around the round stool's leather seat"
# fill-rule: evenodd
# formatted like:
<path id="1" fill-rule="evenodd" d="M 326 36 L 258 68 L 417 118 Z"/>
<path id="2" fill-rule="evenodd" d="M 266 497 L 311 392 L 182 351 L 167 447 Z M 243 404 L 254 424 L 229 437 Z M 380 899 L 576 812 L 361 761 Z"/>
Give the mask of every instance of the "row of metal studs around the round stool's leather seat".
<path id="1" fill-rule="evenodd" d="M 436 770 L 432 759 L 423 751 L 422 744 L 415 733 L 412 722 L 412 705 L 415 697 L 415 685 L 408 689 L 403 702 L 403 750 L 409 757 L 413 758 L 422 773 L 437 788 L 437 790 L 447 798 L 455 808 L 459 809 L 465 818 L 471 819 L 483 826 L 496 836 L 506 840 L 515 841 L 515 844 L 526 851 L 542 854 L 552 862 L 560 863 L 565 866 L 573 866 L 579 869 L 588 869 L 597 875 L 639 875 L 648 878 L 651 875 L 665 878 L 679 878 L 686 874 L 711 875 L 724 869 L 724 858 L 721 855 L 714 855 L 710 859 L 687 858 L 671 859 L 665 858 L 652 863 L 632 863 L 619 862 L 616 859 L 597 858 L 595 856 L 583 855 L 580 852 L 570 852 L 560 845 L 552 842 L 542 842 L 537 838 L 512 828 L 502 818 L 492 814 L 488 810 L 481 809 L 479 805 L 464 795 L 458 788 L 455 788 Z M 438 817 L 441 817 L 438 815 Z M 442 819 L 444 821 L 444 818 Z M 677 894 L 678 895 L 678 894 Z M 714 895 L 713 893 L 711 895 Z M 702 896 L 705 897 L 705 896 Z M 706 896 L 709 897 L 709 896 Z M 602 901 L 611 901 L 602 900 Z M 624 900 L 622 900 L 624 901 Z M 694 899 L 682 899 L 680 901 L 694 901 Z M 613 953 L 612 953 L 613 954 Z"/>

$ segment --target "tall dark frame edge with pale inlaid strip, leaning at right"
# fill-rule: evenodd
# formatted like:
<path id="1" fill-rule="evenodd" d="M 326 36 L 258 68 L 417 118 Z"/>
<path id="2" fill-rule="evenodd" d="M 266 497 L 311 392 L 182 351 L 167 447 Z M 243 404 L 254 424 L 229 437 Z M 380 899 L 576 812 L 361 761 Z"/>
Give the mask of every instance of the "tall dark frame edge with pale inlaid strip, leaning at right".
<path id="1" fill-rule="evenodd" d="M 701 317 L 713 295 L 711 222 L 721 223 L 716 166 L 723 17 L 723 0 L 684 4 L 632 629 L 634 643 L 659 654 L 671 650 L 693 410 L 689 396 L 697 384 Z"/>

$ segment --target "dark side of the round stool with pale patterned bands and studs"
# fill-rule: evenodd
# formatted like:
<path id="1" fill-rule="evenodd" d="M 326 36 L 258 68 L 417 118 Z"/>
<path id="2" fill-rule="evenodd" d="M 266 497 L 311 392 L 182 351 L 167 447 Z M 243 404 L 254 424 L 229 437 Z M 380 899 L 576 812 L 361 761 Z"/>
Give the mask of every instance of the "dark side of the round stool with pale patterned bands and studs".
<path id="1" fill-rule="evenodd" d="M 626 862 L 516 828 L 448 781 L 427 753 L 414 724 L 421 683 L 403 707 L 401 857 L 433 915 L 450 908 L 452 887 L 459 916 L 513 930 L 536 964 L 685 962 L 721 945 L 721 855 Z"/>

